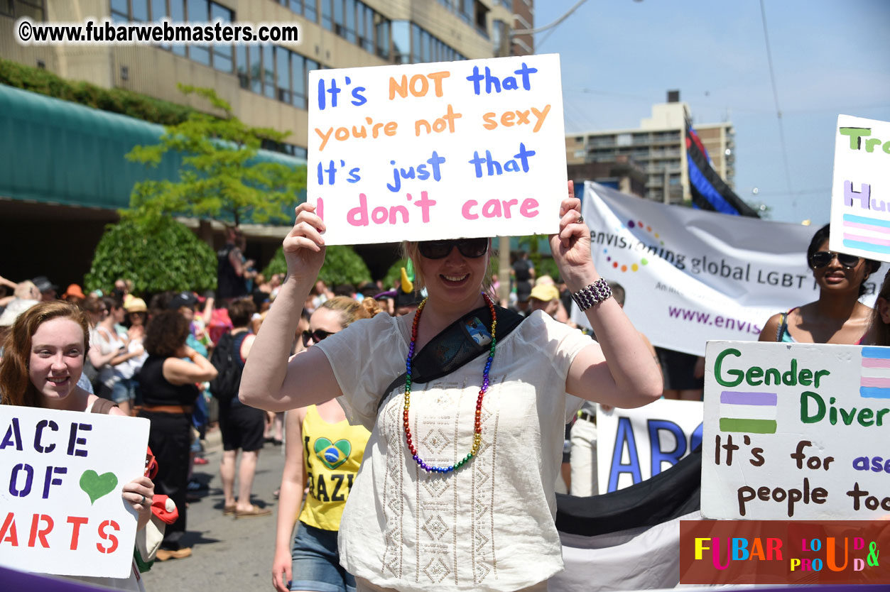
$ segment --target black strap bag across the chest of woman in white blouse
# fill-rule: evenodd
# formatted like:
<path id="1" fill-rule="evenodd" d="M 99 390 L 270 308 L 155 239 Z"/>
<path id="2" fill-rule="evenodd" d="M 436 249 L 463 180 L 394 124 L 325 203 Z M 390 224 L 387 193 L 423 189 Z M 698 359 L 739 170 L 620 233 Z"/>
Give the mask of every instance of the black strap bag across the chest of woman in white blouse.
<path id="1" fill-rule="evenodd" d="M 508 308 L 495 307 L 498 315 L 498 332 L 496 340 L 504 339 L 525 319 L 519 313 Z M 478 321 L 485 327 L 491 326 L 491 311 L 488 307 L 476 308 L 465 316 L 449 324 L 445 329 L 433 337 L 423 349 L 421 349 L 411 362 L 412 382 L 429 382 L 456 371 L 461 366 L 472 362 L 477 357 L 489 351 L 487 343 L 480 345 L 470 335 L 469 325 Z M 405 384 L 406 372 L 402 372 L 384 390 L 377 402 L 377 409 L 384 404 L 384 400 L 394 388 Z"/>

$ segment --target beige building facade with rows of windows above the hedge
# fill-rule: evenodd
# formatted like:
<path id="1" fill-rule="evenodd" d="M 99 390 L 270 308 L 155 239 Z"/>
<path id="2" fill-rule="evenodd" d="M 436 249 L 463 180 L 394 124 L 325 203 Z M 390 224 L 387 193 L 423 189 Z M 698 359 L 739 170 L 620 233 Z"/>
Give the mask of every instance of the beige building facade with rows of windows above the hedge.
<path id="1" fill-rule="evenodd" d="M 530 25 L 530 12 L 523 14 Z M 490 58 L 498 55 L 493 39 L 509 39 L 514 28 L 505 0 L 0 0 L 0 27 L 12 31 L 20 16 L 295 23 L 302 35 L 295 44 L 26 46 L 0 36 L 0 58 L 103 88 L 202 108 L 176 84 L 213 88 L 247 124 L 291 132 L 279 148 L 295 156 L 305 156 L 309 70 Z"/>

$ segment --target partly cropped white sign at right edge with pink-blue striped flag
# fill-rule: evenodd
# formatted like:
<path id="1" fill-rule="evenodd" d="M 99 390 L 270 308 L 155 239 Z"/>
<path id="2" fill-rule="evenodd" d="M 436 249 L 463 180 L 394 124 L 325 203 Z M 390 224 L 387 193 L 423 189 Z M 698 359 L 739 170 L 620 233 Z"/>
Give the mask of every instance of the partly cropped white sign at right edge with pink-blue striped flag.
<path id="1" fill-rule="evenodd" d="M 832 251 L 890 261 L 890 123 L 837 116 Z"/>

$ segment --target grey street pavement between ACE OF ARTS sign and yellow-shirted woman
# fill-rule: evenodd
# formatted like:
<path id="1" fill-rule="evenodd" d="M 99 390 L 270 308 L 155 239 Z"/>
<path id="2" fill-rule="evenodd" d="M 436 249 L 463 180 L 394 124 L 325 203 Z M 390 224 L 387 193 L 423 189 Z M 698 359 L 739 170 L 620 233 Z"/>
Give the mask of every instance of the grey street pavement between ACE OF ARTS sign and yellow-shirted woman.
<path id="1" fill-rule="evenodd" d="M 189 504 L 183 544 L 192 547 L 185 559 L 156 561 L 142 574 L 147 592 L 255 592 L 272 590 L 271 564 L 275 551 L 278 500 L 272 492 L 281 482 L 283 447 L 265 444 L 254 479 L 253 501 L 272 509 L 271 516 L 223 516 L 223 482 L 219 476 L 223 445 L 219 430 L 207 435 L 206 465 L 196 465 L 194 476 L 207 489 Z M 237 486 L 237 482 L 236 482 Z"/>

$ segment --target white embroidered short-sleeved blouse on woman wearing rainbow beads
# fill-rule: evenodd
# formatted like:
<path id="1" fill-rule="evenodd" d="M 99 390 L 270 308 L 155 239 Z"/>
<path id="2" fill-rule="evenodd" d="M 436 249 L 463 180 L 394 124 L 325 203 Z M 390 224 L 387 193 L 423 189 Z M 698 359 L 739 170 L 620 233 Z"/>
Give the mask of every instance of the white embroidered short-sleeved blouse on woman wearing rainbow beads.
<path id="1" fill-rule="evenodd" d="M 565 381 L 592 341 L 542 312 L 498 339 L 479 453 L 453 472 L 428 474 L 405 443 L 403 387 L 383 393 L 405 372 L 410 321 L 378 315 L 315 346 L 334 369 L 346 417 L 371 431 L 340 524 L 341 564 L 411 592 L 506 592 L 546 580 L 562 570 L 554 484 L 565 424 L 582 403 Z M 412 385 L 409 422 L 425 461 L 450 465 L 470 452 L 485 361 Z"/>

